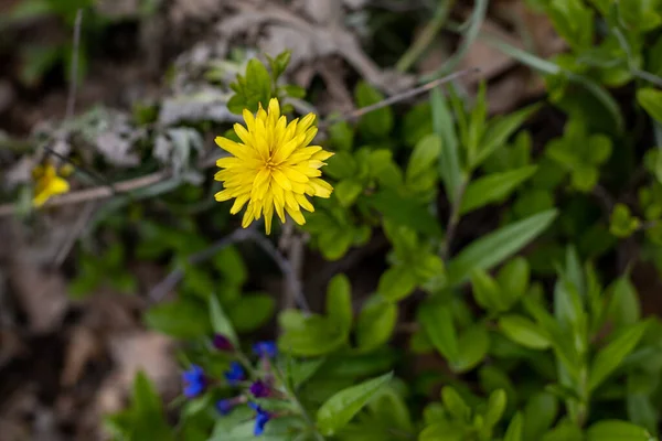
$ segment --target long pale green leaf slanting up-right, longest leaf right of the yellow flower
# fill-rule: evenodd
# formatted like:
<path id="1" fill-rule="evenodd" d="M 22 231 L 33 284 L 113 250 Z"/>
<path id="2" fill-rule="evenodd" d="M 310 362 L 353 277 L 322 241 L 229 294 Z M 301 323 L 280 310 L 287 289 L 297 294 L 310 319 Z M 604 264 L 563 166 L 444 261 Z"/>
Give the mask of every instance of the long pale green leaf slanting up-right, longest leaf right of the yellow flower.
<path id="1" fill-rule="evenodd" d="M 558 212 L 548 209 L 490 233 L 463 248 L 447 267 L 449 287 L 457 287 L 474 269 L 490 269 L 517 252 L 554 222 Z"/>

